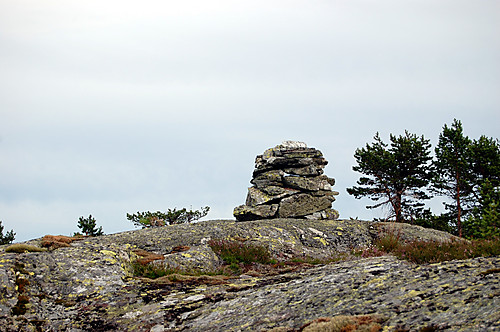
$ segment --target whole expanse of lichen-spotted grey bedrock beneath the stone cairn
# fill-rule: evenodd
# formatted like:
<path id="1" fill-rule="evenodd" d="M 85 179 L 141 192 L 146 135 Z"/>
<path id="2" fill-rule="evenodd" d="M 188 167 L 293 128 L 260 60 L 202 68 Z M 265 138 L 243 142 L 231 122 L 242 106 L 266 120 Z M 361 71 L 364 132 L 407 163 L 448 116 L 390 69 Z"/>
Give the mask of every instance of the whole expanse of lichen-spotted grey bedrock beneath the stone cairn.
<path id="1" fill-rule="evenodd" d="M 384 331 L 500 329 L 500 258 L 415 266 L 392 256 L 274 274 L 137 278 L 131 262 L 210 270 L 210 239 L 267 246 L 275 257 L 324 257 L 369 246 L 451 235 L 355 220 L 206 221 L 86 238 L 43 252 L 0 246 L 0 331 L 293 331 L 319 317 L 378 314 Z M 40 247 L 41 239 L 27 244 Z M 30 248 L 30 247 L 28 247 Z"/>

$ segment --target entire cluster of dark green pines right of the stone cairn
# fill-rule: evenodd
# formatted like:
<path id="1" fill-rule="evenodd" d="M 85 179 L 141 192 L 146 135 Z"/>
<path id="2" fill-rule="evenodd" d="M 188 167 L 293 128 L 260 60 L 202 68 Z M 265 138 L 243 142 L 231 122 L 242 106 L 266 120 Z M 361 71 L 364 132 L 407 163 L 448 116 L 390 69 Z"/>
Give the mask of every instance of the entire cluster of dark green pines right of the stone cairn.
<path id="1" fill-rule="evenodd" d="M 500 236 L 500 142 L 464 135 L 462 123 L 446 124 L 430 157 L 429 141 L 406 132 L 378 133 L 375 142 L 357 149 L 353 170 L 363 174 L 347 192 L 376 202 L 367 208 L 389 207 L 386 219 L 431 227 L 468 239 Z M 423 201 L 435 193 L 448 199 L 446 212 L 432 215 Z"/>

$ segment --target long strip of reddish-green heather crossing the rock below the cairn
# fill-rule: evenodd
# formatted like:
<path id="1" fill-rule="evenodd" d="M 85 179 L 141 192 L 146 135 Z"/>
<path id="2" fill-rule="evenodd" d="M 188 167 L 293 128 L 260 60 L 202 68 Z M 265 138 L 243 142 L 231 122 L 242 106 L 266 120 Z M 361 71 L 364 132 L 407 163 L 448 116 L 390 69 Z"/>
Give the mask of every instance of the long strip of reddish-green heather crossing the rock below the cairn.
<path id="1" fill-rule="evenodd" d="M 223 264 L 212 271 L 201 269 L 183 269 L 162 263 L 150 264 L 150 261 L 135 261 L 132 269 L 135 276 L 156 279 L 169 279 L 184 276 L 202 275 L 239 275 L 248 271 L 253 273 L 280 273 L 288 271 L 290 266 L 311 267 L 318 264 L 353 260 L 358 258 L 394 255 L 399 259 L 415 264 L 438 263 L 450 260 L 464 260 L 476 257 L 500 255 L 500 241 L 452 239 L 450 241 L 401 241 L 399 234 L 389 232 L 380 236 L 367 248 L 353 248 L 350 252 L 333 254 L 323 259 L 296 256 L 286 259 L 275 258 L 264 245 L 245 241 L 212 239 L 209 247 L 221 258 Z"/>

